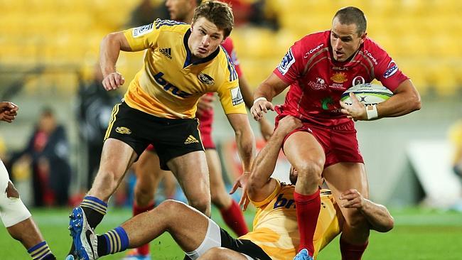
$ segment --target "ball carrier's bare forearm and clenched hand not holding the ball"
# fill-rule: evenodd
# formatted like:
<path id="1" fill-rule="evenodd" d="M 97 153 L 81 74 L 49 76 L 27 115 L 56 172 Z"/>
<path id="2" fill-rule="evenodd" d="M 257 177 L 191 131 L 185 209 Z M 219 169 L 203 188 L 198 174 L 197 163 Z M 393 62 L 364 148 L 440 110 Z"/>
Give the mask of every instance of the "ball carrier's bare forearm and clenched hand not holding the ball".
<path id="1" fill-rule="evenodd" d="M 274 111 L 274 106 L 271 103 L 273 97 L 276 97 L 279 93 L 288 87 L 289 84 L 281 80 L 274 73 L 262 82 L 257 87 L 254 93 L 254 103 L 250 112 L 255 120 L 262 119 L 263 114 L 268 112 L 268 109 Z"/>

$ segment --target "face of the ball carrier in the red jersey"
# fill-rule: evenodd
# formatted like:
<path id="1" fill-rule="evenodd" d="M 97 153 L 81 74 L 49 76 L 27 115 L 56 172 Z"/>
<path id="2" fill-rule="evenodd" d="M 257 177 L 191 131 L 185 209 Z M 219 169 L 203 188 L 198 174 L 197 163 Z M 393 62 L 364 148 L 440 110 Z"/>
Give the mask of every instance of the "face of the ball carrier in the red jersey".
<path id="1" fill-rule="evenodd" d="M 355 23 L 342 24 L 338 18 L 334 18 L 331 30 L 333 59 L 340 62 L 348 60 L 364 43 L 365 37 L 366 33 L 358 36 Z"/>

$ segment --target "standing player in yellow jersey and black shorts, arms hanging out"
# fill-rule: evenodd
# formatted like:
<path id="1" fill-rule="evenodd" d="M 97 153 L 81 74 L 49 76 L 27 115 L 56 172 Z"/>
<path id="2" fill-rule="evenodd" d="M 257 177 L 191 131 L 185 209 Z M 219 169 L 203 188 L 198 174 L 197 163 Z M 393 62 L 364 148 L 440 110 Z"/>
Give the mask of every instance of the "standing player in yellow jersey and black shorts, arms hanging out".
<path id="1" fill-rule="evenodd" d="M 195 119 L 198 99 L 207 92 L 220 97 L 235 131 L 243 169 L 250 171 L 254 135 L 235 67 L 220 47 L 233 23 L 227 4 L 208 1 L 195 9 L 191 25 L 158 19 L 147 26 L 110 33 L 102 40 L 102 83 L 108 91 L 124 84 L 116 70 L 120 50 L 146 50 L 146 54 L 123 102 L 114 107 L 92 188 L 70 214 L 74 242 L 85 237 L 82 228 L 95 228 L 102 221 L 109 197 L 150 143 L 156 147 L 161 168 L 176 175 L 189 204 L 210 216 L 208 167 Z M 70 253 L 82 251 L 82 244 L 74 246 Z"/>

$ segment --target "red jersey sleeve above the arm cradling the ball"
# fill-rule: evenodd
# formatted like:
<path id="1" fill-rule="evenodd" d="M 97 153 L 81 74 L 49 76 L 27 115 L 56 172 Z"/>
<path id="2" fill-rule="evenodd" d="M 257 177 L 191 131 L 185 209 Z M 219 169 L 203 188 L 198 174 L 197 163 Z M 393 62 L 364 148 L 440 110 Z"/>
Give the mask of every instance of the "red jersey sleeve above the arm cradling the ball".
<path id="1" fill-rule="evenodd" d="M 378 64 L 374 67 L 375 78 L 379 80 L 382 85 L 394 92 L 399 84 L 407 80 L 408 77 L 399 70 L 398 65 L 385 50 L 378 49 L 378 53 L 380 53 L 380 59 Z"/>

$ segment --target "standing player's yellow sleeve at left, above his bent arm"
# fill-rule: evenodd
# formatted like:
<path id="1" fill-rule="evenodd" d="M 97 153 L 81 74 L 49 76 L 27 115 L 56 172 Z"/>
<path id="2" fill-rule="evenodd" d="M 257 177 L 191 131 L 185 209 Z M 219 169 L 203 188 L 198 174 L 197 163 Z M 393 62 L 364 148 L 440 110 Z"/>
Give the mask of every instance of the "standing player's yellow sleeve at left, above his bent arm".
<path id="1" fill-rule="evenodd" d="M 157 19 L 154 23 L 146 24 L 136 28 L 130 28 L 123 31 L 125 38 L 129 42 L 131 50 L 139 51 L 148 48 L 155 48 L 157 39 L 161 32 L 157 23 L 161 20 Z"/>

